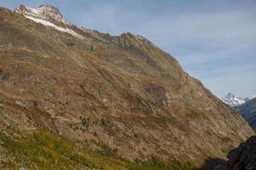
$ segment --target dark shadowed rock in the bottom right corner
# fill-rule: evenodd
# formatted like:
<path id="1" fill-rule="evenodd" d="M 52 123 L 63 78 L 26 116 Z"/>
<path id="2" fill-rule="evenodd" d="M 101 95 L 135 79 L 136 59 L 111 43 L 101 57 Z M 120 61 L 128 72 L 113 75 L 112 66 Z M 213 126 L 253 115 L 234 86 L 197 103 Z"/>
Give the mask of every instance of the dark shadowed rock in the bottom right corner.
<path id="1" fill-rule="evenodd" d="M 229 153 L 228 170 L 256 169 L 256 136 Z"/>

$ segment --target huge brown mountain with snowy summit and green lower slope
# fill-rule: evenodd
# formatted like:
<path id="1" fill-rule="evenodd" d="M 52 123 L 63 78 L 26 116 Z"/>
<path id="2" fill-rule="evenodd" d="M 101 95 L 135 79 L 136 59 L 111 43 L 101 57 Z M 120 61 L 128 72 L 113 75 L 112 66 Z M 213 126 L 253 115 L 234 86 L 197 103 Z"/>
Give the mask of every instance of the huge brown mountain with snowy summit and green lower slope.
<path id="1" fill-rule="evenodd" d="M 193 169 L 253 130 L 148 39 L 0 8 L 0 168 Z"/>

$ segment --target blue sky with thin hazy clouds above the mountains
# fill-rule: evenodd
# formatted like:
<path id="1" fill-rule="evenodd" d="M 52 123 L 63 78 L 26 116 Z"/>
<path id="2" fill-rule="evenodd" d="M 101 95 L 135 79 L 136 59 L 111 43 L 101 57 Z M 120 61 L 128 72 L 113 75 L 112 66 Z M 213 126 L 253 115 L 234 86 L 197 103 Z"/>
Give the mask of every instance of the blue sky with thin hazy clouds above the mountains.
<path id="1" fill-rule="evenodd" d="M 255 0 L 0 0 L 20 4 L 53 4 L 77 26 L 142 35 L 218 96 L 256 94 Z"/>

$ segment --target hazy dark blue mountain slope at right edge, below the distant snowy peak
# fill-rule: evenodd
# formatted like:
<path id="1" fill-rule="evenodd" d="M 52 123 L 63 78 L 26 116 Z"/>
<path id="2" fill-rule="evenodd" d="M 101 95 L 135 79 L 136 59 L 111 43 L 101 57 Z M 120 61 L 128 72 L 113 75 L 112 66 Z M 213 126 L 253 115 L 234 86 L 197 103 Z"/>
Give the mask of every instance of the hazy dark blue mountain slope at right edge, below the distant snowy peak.
<path id="1" fill-rule="evenodd" d="M 251 97 L 245 104 L 234 106 L 241 116 L 250 124 L 253 129 L 256 129 L 256 98 Z"/>

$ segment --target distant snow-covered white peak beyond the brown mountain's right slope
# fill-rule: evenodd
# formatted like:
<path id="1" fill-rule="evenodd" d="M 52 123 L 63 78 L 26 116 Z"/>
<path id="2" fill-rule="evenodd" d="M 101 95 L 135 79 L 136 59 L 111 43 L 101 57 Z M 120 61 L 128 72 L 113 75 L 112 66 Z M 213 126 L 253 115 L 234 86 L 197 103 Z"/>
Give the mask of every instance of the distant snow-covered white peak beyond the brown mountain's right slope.
<path id="1" fill-rule="evenodd" d="M 231 107 L 236 105 L 242 105 L 247 102 L 249 98 L 242 98 L 239 96 L 236 96 L 235 94 L 229 93 L 227 94 L 222 100 L 225 104 L 230 105 Z M 253 98 L 252 98 L 253 99 Z"/>

